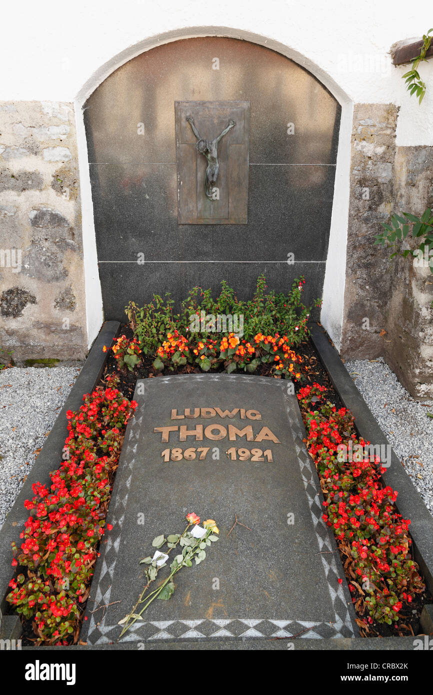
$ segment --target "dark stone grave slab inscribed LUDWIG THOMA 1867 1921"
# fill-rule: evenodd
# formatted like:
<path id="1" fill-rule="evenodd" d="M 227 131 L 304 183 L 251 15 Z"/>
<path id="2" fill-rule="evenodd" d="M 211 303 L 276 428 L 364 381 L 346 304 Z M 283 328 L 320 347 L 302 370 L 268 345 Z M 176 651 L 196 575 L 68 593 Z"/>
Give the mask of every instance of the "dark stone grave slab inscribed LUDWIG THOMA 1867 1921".
<path id="1" fill-rule="evenodd" d="M 188 512 L 215 519 L 218 543 L 122 641 L 353 637 L 288 383 L 225 374 L 137 382 L 108 511 L 113 530 L 101 543 L 83 628 L 88 644 L 117 641 L 117 623 L 144 586 L 139 560 L 153 554 L 158 534 L 181 532 Z M 245 526 L 230 532 L 235 514 Z"/>

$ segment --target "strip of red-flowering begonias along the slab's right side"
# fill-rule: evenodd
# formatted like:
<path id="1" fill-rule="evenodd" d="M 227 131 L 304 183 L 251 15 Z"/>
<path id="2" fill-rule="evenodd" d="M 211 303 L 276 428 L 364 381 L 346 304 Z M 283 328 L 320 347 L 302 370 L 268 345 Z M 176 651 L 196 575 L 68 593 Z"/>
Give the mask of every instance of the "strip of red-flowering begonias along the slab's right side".
<path id="1" fill-rule="evenodd" d="M 398 493 L 381 484 L 385 468 L 379 457 L 344 460 L 338 455 L 342 444 L 349 448 L 349 441 L 355 451 L 367 450 L 369 442 L 357 437 L 350 411 L 323 400 L 325 391 L 325 386 L 313 384 L 297 395 L 325 496 L 327 513 L 322 518 L 348 558 L 347 571 L 365 595 L 370 619 L 391 624 L 400 618 L 403 604 L 425 590 L 409 553 L 410 521 L 395 509 Z"/>

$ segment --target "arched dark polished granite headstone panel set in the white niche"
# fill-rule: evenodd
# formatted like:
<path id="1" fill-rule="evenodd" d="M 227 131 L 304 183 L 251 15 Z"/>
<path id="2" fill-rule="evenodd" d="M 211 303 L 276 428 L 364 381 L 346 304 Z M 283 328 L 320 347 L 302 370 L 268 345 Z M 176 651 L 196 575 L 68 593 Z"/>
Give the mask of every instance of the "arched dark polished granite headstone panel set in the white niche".
<path id="1" fill-rule="evenodd" d="M 218 145 L 220 200 L 203 195 L 206 161 L 190 125 L 178 118 L 176 133 L 185 102 L 203 137 L 237 123 Z M 212 126 L 194 111 L 200 103 Z M 250 106 L 222 118 L 229 103 Z M 108 76 L 84 111 L 106 318 L 124 320 L 130 300 L 142 306 L 153 293 L 170 291 L 179 306 L 194 286 L 216 293 L 222 279 L 251 297 L 261 272 L 278 292 L 305 275 L 304 302 L 320 297 L 340 113 L 300 65 L 231 38 L 164 44 Z"/>

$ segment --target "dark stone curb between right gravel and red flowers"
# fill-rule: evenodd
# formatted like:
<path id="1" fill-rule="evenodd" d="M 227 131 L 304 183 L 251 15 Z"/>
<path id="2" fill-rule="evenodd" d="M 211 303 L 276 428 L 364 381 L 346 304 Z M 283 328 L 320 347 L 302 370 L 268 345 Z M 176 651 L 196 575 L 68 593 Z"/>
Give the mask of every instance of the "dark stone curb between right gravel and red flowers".
<path id="1" fill-rule="evenodd" d="M 352 411 L 359 435 L 373 445 L 384 444 L 391 448 L 325 330 L 313 324 L 311 340 L 334 389 L 345 407 Z M 386 469 L 382 479 L 386 485 L 398 491 L 395 506 L 403 518 L 411 520 L 409 533 L 414 541 L 414 559 L 418 562 L 425 583 L 433 594 L 433 517 L 392 449 L 391 465 Z"/>

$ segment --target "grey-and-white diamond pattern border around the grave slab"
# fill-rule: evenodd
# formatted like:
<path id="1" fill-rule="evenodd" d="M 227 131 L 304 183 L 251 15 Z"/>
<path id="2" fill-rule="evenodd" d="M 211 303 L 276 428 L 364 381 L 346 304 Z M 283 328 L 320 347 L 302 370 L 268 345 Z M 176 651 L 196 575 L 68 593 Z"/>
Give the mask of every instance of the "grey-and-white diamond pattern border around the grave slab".
<path id="1" fill-rule="evenodd" d="M 183 377 L 159 377 L 163 383 L 170 383 L 173 379 Z M 275 382 L 268 377 L 250 377 L 229 375 L 197 375 L 195 379 L 206 381 L 220 381 L 221 379 L 240 378 L 248 382 L 259 385 L 275 384 L 276 388 L 286 387 L 286 382 Z M 146 395 L 146 382 L 144 383 Z M 203 638 L 252 638 L 252 637 L 302 637 L 303 639 L 329 639 L 335 637 L 354 637 L 354 627 L 348 609 L 348 601 L 344 595 L 343 586 L 338 584 L 338 570 L 334 557 L 336 548 L 331 532 L 322 520 L 322 508 L 319 496 L 319 480 L 316 468 L 313 466 L 311 458 L 307 452 L 302 439 L 304 439 L 304 423 L 302 416 L 297 408 L 297 402 L 293 401 L 293 396 L 285 395 L 286 411 L 293 436 L 293 443 L 300 464 L 300 473 L 304 483 L 305 492 L 309 502 L 311 518 L 318 540 L 320 551 L 328 551 L 320 555 L 322 558 L 325 576 L 329 588 L 329 595 L 334 607 L 335 619 L 332 623 L 311 622 L 300 620 L 268 620 L 268 619 L 197 619 L 197 620 L 166 620 L 166 621 L 136 621 L 122 638 L 124 641 L 142 641 L 154 639 L 203 639 Z M 120 546 L 122 523 L 126 512 L 129 488 L 133 473 L 133 454 L 136 453 L 139 441 L 140 428 L 143 414 L 129 420 L 126 426 L 125 443 L 122 448 L 119 468 L 122 471 L 122 481 L 117 475 L 113 495 L 115 495 L 115 507 L 110 523 L 113 525 L 106 546 L 104 546 L 101 569 L 97 580 L 97 573 L 92 584 L 97 581 L 96 594 L 92 591 L 91 596 L 95 595 L 95 605 L 108 605 L 110 603 L 111 585 L 113 583 L 117 553 Z M 314 470 L 313 470 L 314 468 Z M 110 515 L 111 516 L 111 515 Z M 99 624 L 99 618 L 94 614 L 88 614 L 88 644 L 107 644 L 117 641 L 120 626 L 107 625 L 105 618 Z M 85 637 L 84 637 L 85 639 Z"/>

